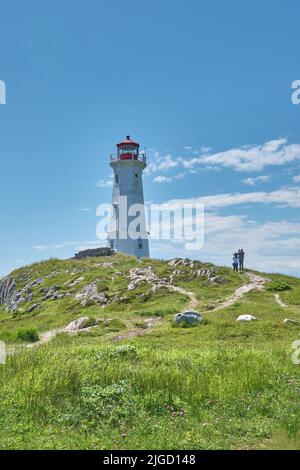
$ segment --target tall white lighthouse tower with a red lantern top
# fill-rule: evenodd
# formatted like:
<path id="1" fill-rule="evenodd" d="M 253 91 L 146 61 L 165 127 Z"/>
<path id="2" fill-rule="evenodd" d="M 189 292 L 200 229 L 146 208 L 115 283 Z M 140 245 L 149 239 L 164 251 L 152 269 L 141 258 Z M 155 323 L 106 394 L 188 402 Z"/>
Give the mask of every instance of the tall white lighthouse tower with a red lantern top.
<path id="1" fill-rule="evenodd" d="M 110 156 L 110 166 L 114 179 L 109 247 L 137 258 L 149 257 L 143 191 L 146 152 L 141 153 L 140 145 L 128 135 Z"/>

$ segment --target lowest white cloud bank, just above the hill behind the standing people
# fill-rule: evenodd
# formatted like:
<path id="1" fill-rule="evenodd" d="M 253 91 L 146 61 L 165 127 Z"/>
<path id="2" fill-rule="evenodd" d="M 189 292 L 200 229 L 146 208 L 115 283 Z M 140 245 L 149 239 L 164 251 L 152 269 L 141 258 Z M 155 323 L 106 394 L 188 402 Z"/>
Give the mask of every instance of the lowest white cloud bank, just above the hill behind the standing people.
<path id="1" fill-rule="evenodd" d="M 199 251 L 186 251 L 185 242 L 152 241 L 151 255 L 164 258 L 190 257 L 231 265 L 235 250 L 246 252 L 246 266 L 265 272 L 300 276 L 300 223 L 280 220 L 258 223 L 247 215 L 206 213 L 205 242 Z"/>

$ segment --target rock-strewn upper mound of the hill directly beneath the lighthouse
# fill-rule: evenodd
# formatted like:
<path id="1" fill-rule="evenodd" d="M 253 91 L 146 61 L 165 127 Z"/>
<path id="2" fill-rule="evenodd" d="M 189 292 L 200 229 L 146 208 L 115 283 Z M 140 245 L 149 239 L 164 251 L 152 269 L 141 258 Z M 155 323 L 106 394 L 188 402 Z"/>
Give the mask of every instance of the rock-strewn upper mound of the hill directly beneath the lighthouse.
<path id="1" fill-rule="evenodd" d="M 111 254 L 78 256 L 16 270 L 0 281 L 0 305 L 15 324 L 32 318 L 43 328 L 41 317 L 43 322 L 47 319 L 47 327 L 55 327 L 61 326 L 63 319 L 71 321 L 79 315 L 95 318 L 110 312 L 122 319 L 120 310 L 138 308 L 151 314 L 160 301 L 168 304 L 162 315 L 176 313 L 185 304 L 196 308 L 200 288 L 202 295 L 205 291 L 209 295 L 202 301 L 199 298 L 199 304 L 212 309 L 218 293 L 229 293 L 242 280 L 243 276 L 236 277 L 229 269 L 188 259 L 164 262 Z"/>

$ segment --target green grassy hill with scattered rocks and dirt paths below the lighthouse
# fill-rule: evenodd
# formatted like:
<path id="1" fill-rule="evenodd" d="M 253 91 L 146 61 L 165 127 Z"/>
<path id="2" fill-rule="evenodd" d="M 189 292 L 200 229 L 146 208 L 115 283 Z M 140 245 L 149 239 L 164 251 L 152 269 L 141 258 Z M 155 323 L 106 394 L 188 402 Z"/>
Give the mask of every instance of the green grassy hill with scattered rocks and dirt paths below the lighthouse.
<path id="1" fill-rule="evenodd" d="M 300 279 L 265 276 L 217 310 L 247 274 L 123 255 L 14 271 L 0 448 L 299 448 L 300 328 L 283 320 L 300 321 Z M 174 327 L 195 303 L 205 322 Z"/>

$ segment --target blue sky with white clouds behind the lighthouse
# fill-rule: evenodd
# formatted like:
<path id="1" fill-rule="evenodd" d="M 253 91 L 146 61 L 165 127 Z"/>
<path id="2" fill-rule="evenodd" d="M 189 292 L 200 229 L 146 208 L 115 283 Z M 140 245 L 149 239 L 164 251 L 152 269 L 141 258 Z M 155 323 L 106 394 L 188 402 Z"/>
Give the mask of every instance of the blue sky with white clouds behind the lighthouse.
<path id="1" fill-rule="evenodd" d="M 0 275 L 97 243 L 108 155 L 149 149 L 145 199 L 201 200 L 193 256 L 300 275 L 299 14 L 287 2 L 1 0 Z M 203 199 L 204 198 L 204 199 Z"/>

